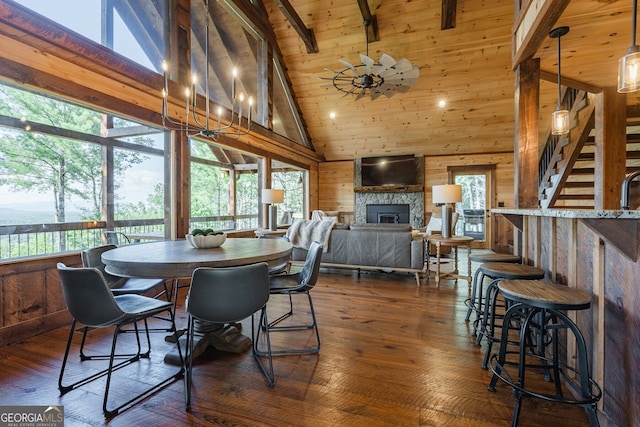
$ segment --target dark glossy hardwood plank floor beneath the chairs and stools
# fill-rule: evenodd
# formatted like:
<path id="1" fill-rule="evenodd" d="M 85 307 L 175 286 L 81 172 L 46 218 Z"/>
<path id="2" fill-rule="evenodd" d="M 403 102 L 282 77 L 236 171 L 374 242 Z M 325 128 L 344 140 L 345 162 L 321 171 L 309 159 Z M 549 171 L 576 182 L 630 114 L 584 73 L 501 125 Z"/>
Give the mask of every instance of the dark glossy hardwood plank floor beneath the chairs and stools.
<path id="1" fill-rule="evenodd" d="M 466 267 L 462 267 L 463 269 Z M 0 348 L 0 405 L 63 405 L 66 426 L 506 426 L 511 389 L 487 391 L 483 349 L 465 323 L 467 284 L 383 272 L 322 270 L 312 291 L 320 325 L 320 354 L 275 358 L 276 386 L 266 381 L 250 352 L 209 348 L 194 367 L 192 412 L 185 412 L 177 381 L 112 419 L 102 414 L 104 379 L 63 396 L 57 388 L 67 328 Z M 184 298 L 181 298 L 183 301 Z M 270 301 L 275 318 L 282 298 Z M 307 313 L 306 299 L 297 304 Z M 186 317 L 178 313 L 178 324 Z M 250 330 L 244 322 L 245 331 Z M 126 334 L 124 339 L 132 338 Z M 273 333 L 273 346 L 297 345 L 309 331 Z M 92 331 L 92 348 L 105 350 L 110 334 Z M 174 369 L 163 363 L 171 344 L 152 334 L 152 357 L 118 371 L 115 398 Z M 77 354 L 77 353 L 76 353 Z M 72 359 L 77 362 L 77 357 Z M 83 362 L 83 369 L 102 362 Z M 89 368 L 88 368 L 89 367 Z M 584 411 L 526 399 L 521 426 L 584 426 Z"/>

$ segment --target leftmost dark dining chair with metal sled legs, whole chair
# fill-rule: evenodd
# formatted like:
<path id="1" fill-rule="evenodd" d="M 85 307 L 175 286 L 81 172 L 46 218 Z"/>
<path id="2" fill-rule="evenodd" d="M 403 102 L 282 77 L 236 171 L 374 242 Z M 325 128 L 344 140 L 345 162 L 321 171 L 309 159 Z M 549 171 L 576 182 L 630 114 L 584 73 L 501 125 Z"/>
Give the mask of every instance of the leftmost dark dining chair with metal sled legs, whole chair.
<path id="1" fill-rule="evenodd" d="M 149 359 L 151 353 L 151 340 L 147 327 L 147 320 L 150 317 L 160 313 L 167 312 L 171 324 L 175 329 L 173 312 L 171 311 L 171 303 L 155 298 L 145 297 L 142 295 L 113 295 L 104 276 L 97 268 L 71 268 L 63 263 L 58 263 L 58 275 L 62 286 L 64 300 L 69 309 L 69 313 L 73 318 L 71 328 L 69 330 L 69 338 L 62 359 L 62 367 L 60 368 L 60 377 L 58 379 L 58 388 L 61 394 L 65 394 L 74 388 L 88 384 L 98 378 L 106 375 L 106 384 L 104 390 L 104 400 L 102 410 L 106 418 L 117 415 L 121 410 L 132 406 L 151 393 L 163 388 L 176 379 L 179 379 L 184 370 L 182 364 L 180 369 L 172 373 L 171 376 L 164 378 L 151 387 L 138 393 L 134 397 L 128 399 L 124 403 L 120 403 L 113 408 L 109 408 L 109 387 L 111 384 L 112 374 L 125 366 L 139 361 L 142 358 Z M 143 352 L 140 343 L 140 334 L 138 330 L 138 322 L 145 325 L 145 335 L 147 339 L 147 349 Z M 88 369 L 90 372 L 84 378 L 71 384 L 64 384 L 64 375 L 67 368 L 69 351 L 73 342 L 73 336 L 76 325 L 80 323 L 88 328 L 110 328 L 113 330 L 113 338 L 111 343 L 111 353 L 109 355 L 109 364 L 106 369 L 95 372 L 95 369 Z M 136 332 L 137 349 L 135 352 L 128 354 L 117 354 L 116 347 L 118 344 L 118 336 L 124 326 L 132 326 Z M 84 343 L 84 336 L 83 336 Z M 122 347 L 122 344 L 120 345 Z M 182 352 L 179 350 L 181 362 L 183 362 Z M 115 359 L 124 359 L 115 363 Z M 123 396 L 127 390 L 118 390 L 118 396 Z"/>

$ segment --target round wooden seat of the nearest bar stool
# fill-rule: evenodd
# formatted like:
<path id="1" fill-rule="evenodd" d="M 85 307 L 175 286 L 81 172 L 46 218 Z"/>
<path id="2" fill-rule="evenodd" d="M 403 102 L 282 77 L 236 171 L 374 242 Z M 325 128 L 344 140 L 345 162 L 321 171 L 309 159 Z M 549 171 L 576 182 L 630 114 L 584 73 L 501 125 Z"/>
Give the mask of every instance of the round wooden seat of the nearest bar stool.
<path id="1" fill-rule="evenodd" d="M 539 280 L 503 280 L 500 293 L 512 301 L 555 310 L 583 310 L 591 306 L 591 295 L 568 286 Z"/>

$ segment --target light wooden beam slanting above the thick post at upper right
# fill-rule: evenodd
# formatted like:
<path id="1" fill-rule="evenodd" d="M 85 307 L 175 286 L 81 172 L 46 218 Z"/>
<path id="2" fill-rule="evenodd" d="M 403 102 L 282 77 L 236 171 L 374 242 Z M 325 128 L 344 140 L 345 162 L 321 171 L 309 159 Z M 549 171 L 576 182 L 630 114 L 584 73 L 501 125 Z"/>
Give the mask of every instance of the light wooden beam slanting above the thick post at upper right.
<path id="1" fill-rule="evenodd" d="M 568 5 L 569 0 L 530 0 L 520 15 L 515 17 L 511 43 L 511 65 L 514 70 L 521 62 L 535 55 Z"/>

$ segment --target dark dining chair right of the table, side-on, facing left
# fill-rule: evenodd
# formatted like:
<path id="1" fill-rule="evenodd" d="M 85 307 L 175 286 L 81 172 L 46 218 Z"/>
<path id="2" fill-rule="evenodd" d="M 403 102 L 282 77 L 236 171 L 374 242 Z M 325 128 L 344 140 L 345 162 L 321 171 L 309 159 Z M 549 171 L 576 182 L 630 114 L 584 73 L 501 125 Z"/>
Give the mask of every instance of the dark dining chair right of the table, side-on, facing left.
<path id="1" fill-rule="evenodd" d="M 315 354 L 320 351 L 320 333 L 318 332 L 318 322 L 316 313 L 313 308 L 313 300 L 311 298 L 311 289 L 316 285 L 320 276 L 320 262 L 322 261 L 322 244 L 312 242 L 307 251 L 304 265 L 302 269 L 295 273 L 278 274 L 269 277 L 269 292 L 274 295 L 287 295 L 289 297 L 289 310 L 282 316 L 272 321 L 269 329 L 276 331 L 292 331 L 302 329 L 313 329 L 316 336 L 316 345 L 303 349 L 287 349 L 287 350 L 271 350 L 273 355 L 281 354 Z M 309 310 L 311 313 L 310 323 L 283 324 L 284 320 L 293 316 L 293 296 L 306 295 L 309 302 Z M 281 324 L 281 322 L 283 322 Z"/>

